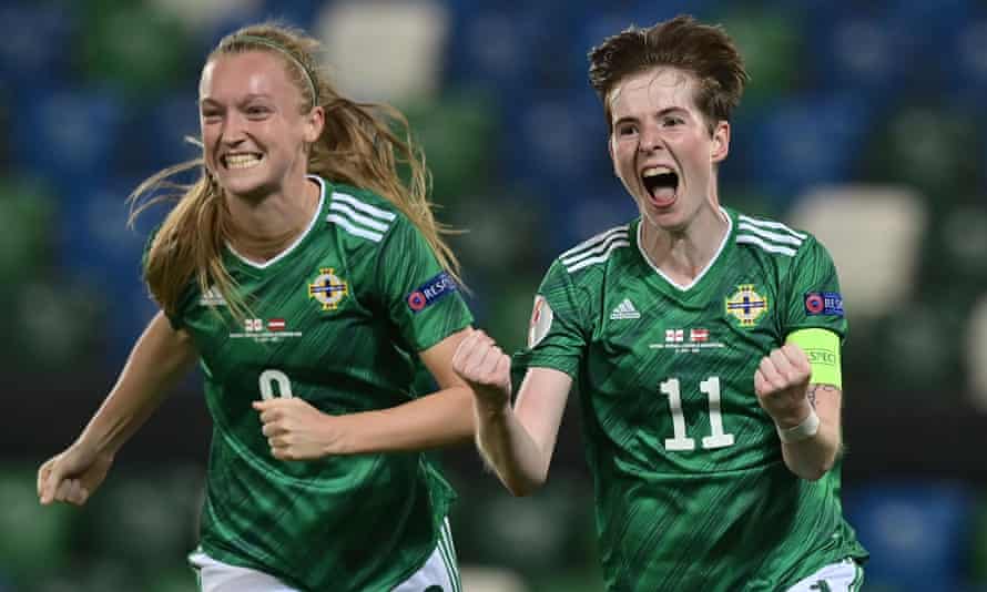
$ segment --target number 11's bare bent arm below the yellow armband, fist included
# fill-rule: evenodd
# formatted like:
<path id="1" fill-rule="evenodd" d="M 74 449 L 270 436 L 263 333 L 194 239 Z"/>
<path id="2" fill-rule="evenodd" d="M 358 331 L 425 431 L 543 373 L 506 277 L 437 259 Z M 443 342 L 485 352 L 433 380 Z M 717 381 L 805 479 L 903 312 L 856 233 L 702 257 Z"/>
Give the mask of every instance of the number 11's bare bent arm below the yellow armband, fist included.
<path id="1" fill-rule="evenodd" d="M 754 389 L 761 407 L 779 430 L 803 430 L 818 417 L 818 427 L 797 441 L 782 441 L 782 456 L 788 469 L 810 481 L 821 479 L 833 468 L 842 446 L 841 407 L 843 392 L 831 385 L 810 385 L 812 370 L 805 353 L 785 344 L 761 360 L 754 374 Z M 801 427 L 800 427 L 801 426 Z"/>

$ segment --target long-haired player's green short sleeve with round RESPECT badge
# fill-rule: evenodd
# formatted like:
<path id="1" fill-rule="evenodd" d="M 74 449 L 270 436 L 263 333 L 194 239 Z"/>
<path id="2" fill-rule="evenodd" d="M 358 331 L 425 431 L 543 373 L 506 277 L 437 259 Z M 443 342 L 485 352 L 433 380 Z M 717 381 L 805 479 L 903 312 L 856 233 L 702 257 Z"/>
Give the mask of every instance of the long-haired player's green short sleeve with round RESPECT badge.
<path id="1" fill-rule="evenodd" d="M 375 274 L 391 321 L 414 350 L 428 349 L 472 323 L 455 278 L 404 216 L 381 243 Z"/>

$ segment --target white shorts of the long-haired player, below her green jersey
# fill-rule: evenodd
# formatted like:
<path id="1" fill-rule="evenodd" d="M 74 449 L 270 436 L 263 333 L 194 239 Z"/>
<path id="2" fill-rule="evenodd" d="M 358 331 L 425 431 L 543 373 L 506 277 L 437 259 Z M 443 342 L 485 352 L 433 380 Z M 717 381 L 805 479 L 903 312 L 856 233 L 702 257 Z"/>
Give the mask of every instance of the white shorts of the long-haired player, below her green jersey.
<path id="1" fill-rule="evenodd" d="M 202 592 L 301 592 L 277 578 L 250 568 L 241 568 L 217 561 L 201 549 L 189 555 L 189 562 L 199 576 Z M 436 590 L 438 588 L 438 590 Z M 446 519 L 439 532 L 439 542 L 421 569 L 399 583 L 391 592 L 462 592 L 456 548 Z"/>

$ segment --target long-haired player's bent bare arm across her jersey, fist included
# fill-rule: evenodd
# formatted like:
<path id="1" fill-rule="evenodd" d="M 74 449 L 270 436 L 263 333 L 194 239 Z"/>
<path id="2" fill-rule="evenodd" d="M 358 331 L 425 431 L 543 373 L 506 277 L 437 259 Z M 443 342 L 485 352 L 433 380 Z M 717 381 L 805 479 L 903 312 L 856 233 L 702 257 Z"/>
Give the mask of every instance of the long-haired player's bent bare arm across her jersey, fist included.
<path id="1" fill-rule="evenodd" d="M 389 409 L 342 416 L 323 414 L 297 398 L 255 401 L 275 458 L 424 450 L 468 440 L 474 433 L 471 396 L 455 371 L 452 354 L 470 329 L 419 354 L 439 390 Z"/>

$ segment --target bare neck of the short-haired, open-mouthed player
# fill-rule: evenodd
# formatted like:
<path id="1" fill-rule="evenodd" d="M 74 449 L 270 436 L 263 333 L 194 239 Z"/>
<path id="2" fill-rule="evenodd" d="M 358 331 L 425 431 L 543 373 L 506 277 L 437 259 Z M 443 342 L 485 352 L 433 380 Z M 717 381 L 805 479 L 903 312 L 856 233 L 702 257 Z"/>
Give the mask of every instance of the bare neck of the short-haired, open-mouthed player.
<path id="1" fill-rule="evenodd" d="M 713 204 L 682 228 L 662 228 L 642 216 L 641 249 L 676 284 L 690 284 L 713 259 L 729 227 L 726 215 Z"/>

